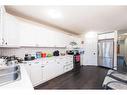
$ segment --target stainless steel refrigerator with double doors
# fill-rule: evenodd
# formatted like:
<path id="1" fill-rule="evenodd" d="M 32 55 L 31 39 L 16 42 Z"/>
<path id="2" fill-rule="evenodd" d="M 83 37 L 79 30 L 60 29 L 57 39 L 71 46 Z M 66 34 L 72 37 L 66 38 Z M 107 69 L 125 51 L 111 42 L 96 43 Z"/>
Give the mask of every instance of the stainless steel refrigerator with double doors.
<path id="1" fill-rule="evenodd" d="M 114 67 L 114 40 L 106 39 L 98 41 L 98 66 Z"/>

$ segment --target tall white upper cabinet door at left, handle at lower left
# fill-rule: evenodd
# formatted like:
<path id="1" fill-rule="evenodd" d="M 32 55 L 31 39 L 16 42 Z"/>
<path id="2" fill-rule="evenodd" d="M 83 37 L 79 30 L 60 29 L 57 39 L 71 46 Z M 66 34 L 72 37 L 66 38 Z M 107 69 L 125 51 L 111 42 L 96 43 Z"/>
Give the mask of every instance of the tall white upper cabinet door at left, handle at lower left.
<path id="1" fill-rule="evenodd" d="M 8 46 L 19 46 L 19 28 L 17 19 L 10 15 L 5 14 L 5 23 L 4 23 L 4 40 L 5 45 Z"/>

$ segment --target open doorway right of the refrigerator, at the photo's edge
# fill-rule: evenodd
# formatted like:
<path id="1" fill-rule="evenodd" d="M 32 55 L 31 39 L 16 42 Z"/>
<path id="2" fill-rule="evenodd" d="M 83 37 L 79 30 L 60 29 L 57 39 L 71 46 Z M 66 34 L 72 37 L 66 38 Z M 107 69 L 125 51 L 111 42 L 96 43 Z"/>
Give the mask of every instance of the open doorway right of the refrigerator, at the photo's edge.
<path id="1" fill-rule="evenodd" d="M 127 32 L 118 34 L 117 69 L 120 72 L 127 72 Z"/>

